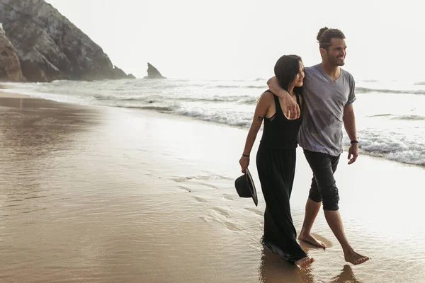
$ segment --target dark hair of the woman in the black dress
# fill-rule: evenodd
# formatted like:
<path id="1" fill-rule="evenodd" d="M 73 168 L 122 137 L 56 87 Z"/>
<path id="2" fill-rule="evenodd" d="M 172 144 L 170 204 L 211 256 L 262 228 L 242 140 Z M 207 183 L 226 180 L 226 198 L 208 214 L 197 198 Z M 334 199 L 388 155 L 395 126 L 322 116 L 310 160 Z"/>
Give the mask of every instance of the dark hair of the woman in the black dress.
<path id="1" fill-rule="evenodd" d="M 275 76 L 279 86 L 288 91 L 289 84 L 295 79 L 300 71 L 302 59 L 297 55 L 283 55 L 275 65 Z"/>

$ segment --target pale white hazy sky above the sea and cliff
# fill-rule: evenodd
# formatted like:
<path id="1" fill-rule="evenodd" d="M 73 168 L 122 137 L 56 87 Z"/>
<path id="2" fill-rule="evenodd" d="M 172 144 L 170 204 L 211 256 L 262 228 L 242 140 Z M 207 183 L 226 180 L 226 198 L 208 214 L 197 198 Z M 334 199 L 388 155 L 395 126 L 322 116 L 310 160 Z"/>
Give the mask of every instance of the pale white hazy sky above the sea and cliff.
<path id="1" fill-rule="evenodd" d="M 425 81 L 421 1 L 47 0 L 137 77 L 268 79 L 283 54 L 321 61 L 320 28 L 346 35 L 357 80 Z"/>

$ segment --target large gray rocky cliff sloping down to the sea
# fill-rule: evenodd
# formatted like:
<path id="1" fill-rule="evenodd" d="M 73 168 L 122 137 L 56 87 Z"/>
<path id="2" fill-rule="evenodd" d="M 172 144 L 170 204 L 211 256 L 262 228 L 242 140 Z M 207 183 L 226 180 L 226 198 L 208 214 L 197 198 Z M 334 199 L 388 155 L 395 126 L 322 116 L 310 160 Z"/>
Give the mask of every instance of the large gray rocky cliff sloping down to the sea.
<path id="1" fill-rule="evenodd" d="M 0 23 L 28 81 L 128 78 L 101 47 L 44 0 L 0 0 Z"/>

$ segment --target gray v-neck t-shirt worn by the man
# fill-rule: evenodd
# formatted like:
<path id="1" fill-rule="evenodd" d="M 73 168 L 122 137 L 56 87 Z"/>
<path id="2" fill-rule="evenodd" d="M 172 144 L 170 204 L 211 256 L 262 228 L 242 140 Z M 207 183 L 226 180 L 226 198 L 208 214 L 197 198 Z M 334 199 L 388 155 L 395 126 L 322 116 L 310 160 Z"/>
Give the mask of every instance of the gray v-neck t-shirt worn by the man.
<path id="1" fill-rule="evenodd" d="M 305 67 L 303 120 L 298 143 L 303 149 L 339 156 L 344 107 L 356 100 L 353 76 L 341 69 L 333 81 L 320 64 Z"/>

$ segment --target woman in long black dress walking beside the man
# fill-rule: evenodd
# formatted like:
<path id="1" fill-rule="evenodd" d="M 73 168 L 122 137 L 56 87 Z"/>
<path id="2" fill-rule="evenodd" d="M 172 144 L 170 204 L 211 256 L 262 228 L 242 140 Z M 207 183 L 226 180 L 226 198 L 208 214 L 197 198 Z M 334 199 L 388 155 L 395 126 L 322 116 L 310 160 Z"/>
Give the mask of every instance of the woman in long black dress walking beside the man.
<path id="1" fill-rule="evenodd" d="M 302 80 L 304 66 L 296 55 L 285 55 L 276 62 L 274 73 L 281 88 L 290 93 L 302 109 Z M 297 243 L 297 232 L 290 214 L 297 148 L 297 134 L 302 117 L 288 120 L 283 115 L 280 98 L 271 91 L 261 94 L 256 105 L 254 120 L 246 137 L 239 164 L 242 172 L 249 166 L 249 154 L 264 120 L 263 137 L 256 155 L 261 190 L 266 200 L 263 244 L 279 253 L 282 258 L 300 267 L 309 266 L 314 259 L 307 257 Z"/>

